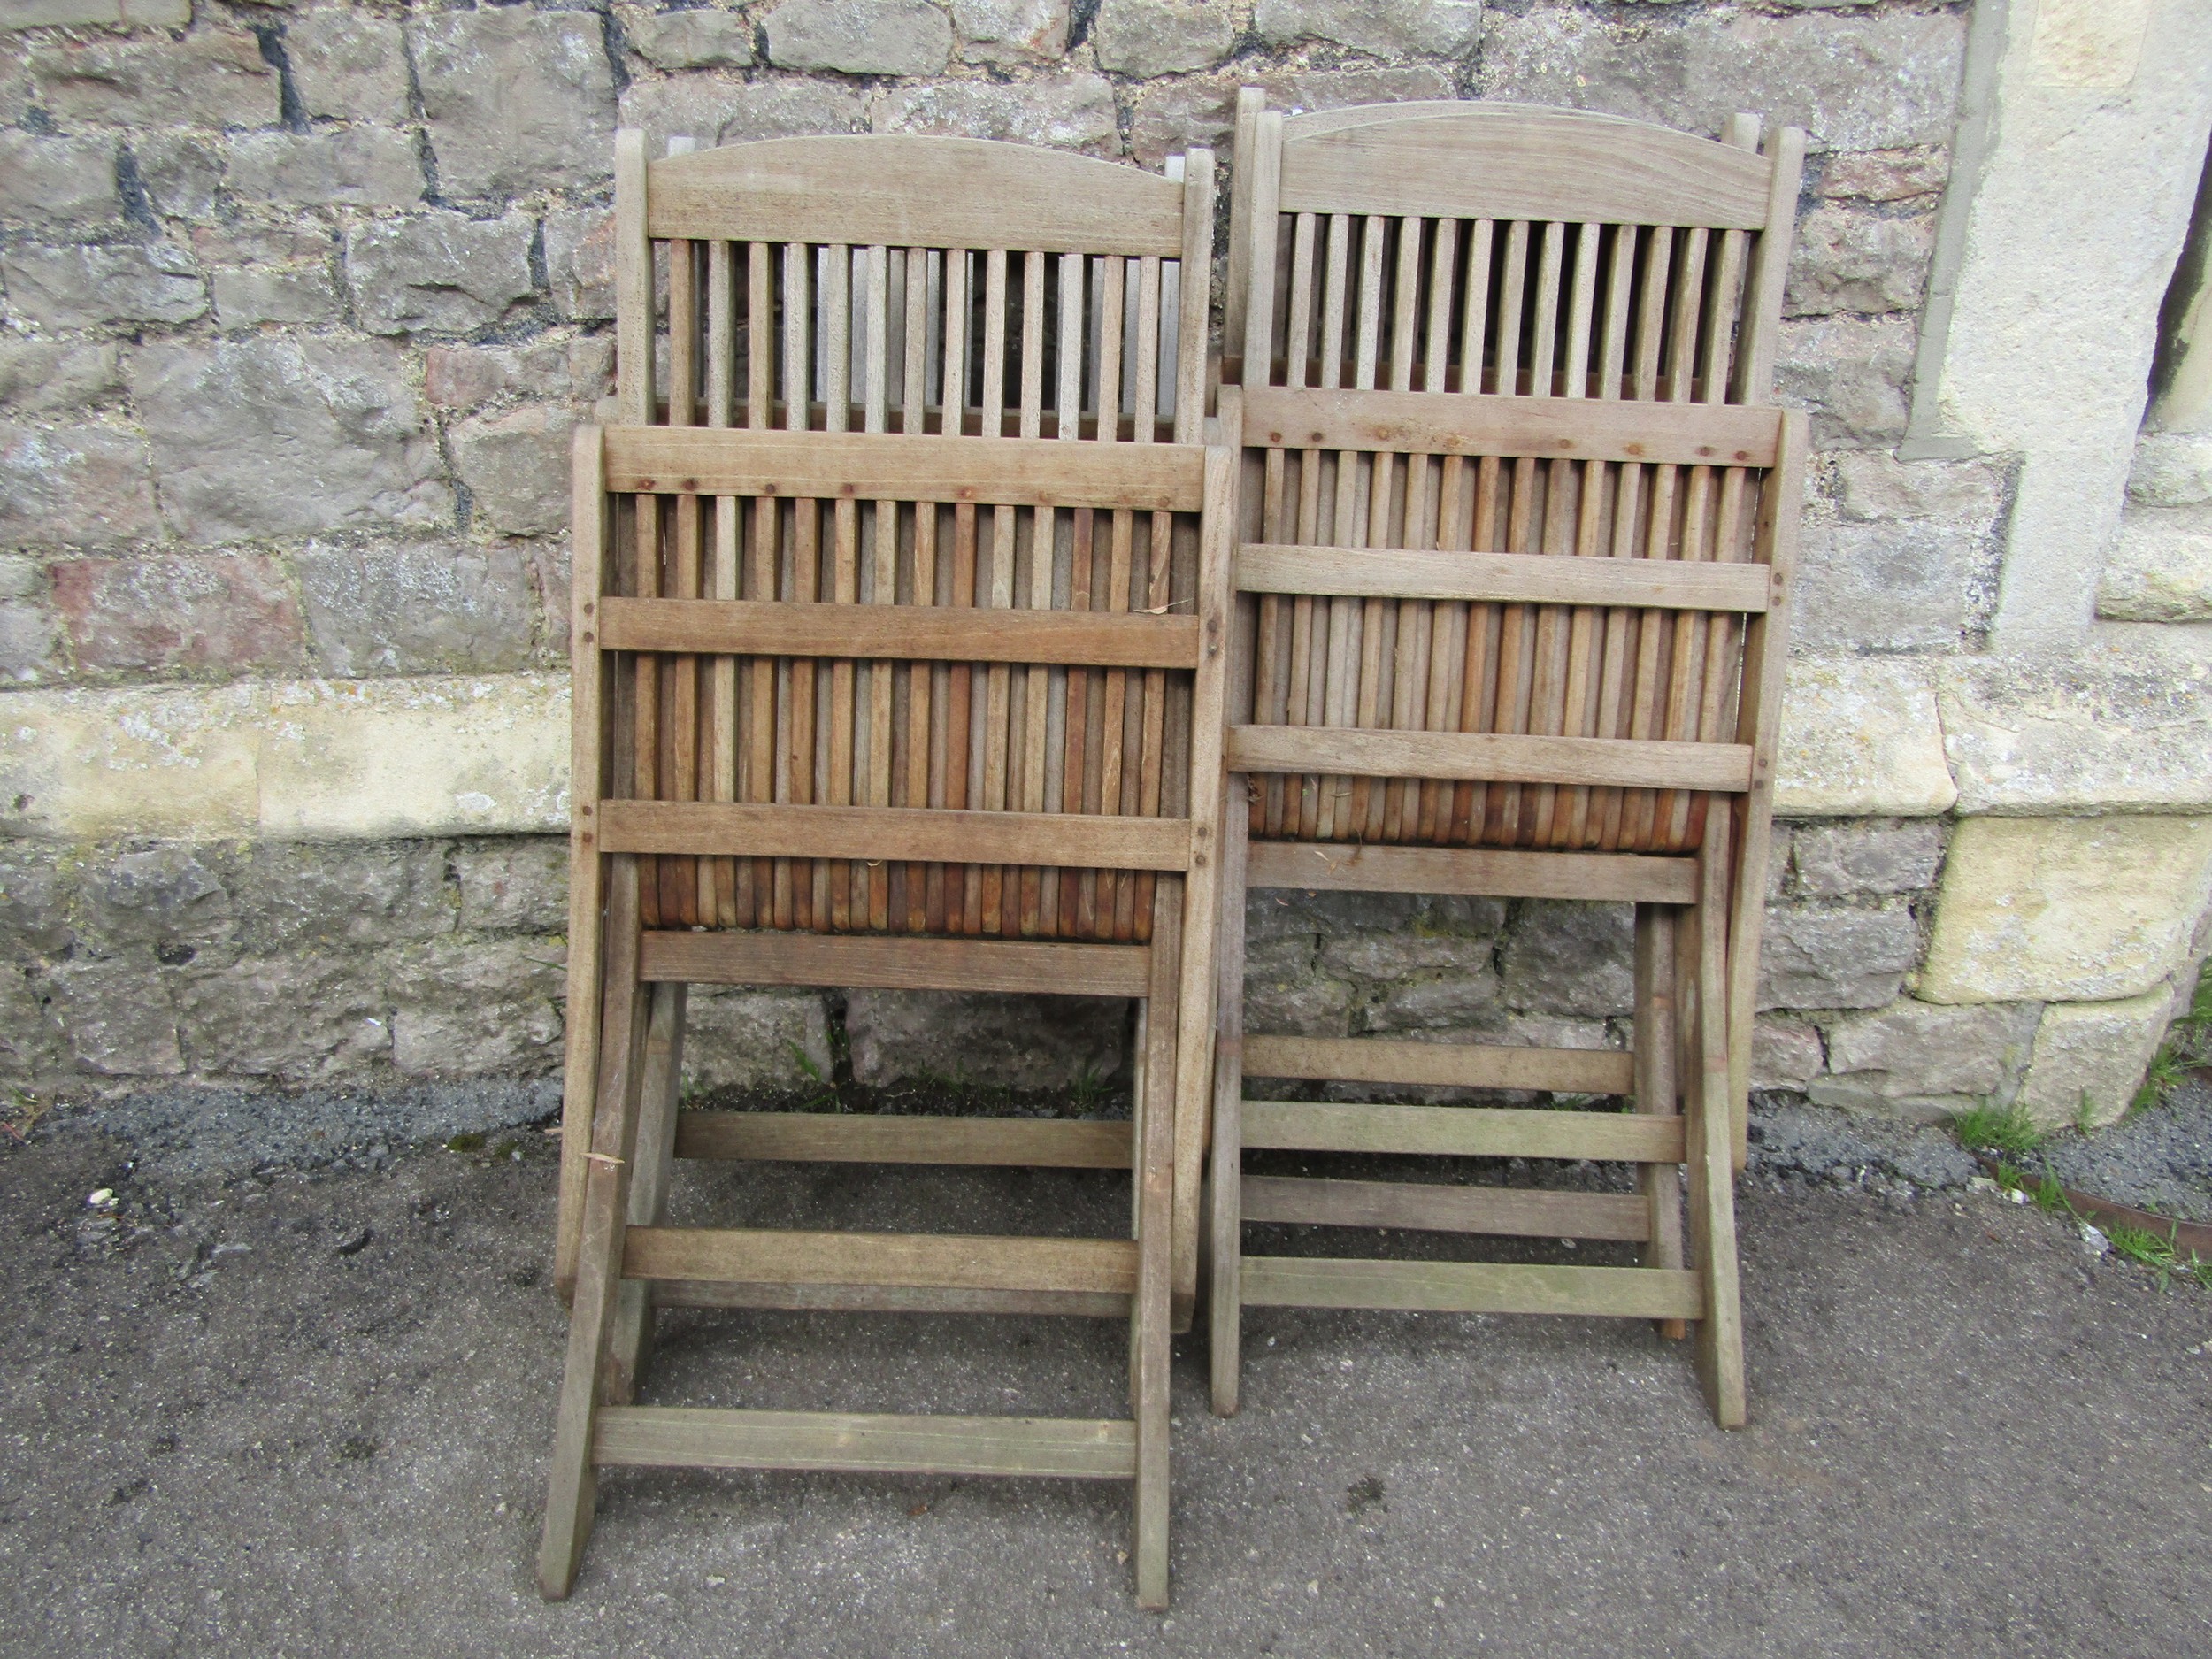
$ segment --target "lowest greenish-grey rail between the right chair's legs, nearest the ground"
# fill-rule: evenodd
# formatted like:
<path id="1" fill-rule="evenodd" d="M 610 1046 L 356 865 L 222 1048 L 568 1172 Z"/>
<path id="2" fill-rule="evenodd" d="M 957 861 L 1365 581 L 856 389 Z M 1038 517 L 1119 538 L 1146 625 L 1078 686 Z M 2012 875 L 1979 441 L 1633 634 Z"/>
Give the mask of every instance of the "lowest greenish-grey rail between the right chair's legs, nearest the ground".
<path id="1" fill-rule="evenodd" d="M 1245 1256 L 1245 1307 L 1391 1307 L 1425 1314 L 1703 1318 L 1683 1267 L 1542 1267 L 1491 1261 Z"/>

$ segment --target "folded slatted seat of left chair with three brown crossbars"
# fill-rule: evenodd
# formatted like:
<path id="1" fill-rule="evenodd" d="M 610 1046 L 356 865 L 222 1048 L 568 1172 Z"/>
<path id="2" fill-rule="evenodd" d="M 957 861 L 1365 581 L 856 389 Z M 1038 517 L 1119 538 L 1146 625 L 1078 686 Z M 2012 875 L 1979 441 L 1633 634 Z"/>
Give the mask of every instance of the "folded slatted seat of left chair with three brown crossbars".
<path id="1" fill-rule="evenodd" d="M 648 927 L 1150 936 L 1219 752 L 1225 451 L 577 442 L 577 812 L 646 856 Z"/>

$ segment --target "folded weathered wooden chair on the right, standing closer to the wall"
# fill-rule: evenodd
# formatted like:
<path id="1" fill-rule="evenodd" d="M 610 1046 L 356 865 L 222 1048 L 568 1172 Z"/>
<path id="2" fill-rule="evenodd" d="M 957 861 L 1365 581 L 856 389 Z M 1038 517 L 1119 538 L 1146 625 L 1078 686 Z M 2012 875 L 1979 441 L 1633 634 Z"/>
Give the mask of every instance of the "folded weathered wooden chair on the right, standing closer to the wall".
<path id="1" fill-rule="evenodd" d="M 1376 803 L 1383 799 L 1380 792 L 1400 787 L 1391 783 L 1394 779 L 1458 779 L 1462 787 L 1495 783 L 1513 792 L 1533 785 L 1542 792 L 1546 812 L 1553 792 L 1564 801 L 1568 790 L 1588 796 L 1604 790 L 1619 794 L 1670 787 L 1674 794 L 1666 799 L 1677 801 L 1677 825 L 1683 823 L 1679 810 L 1688 799 L 1683 790 L 1697 792 L 1708 807 L 1701 834 L 1688 845 L 1621 845 L 1608 852 L 1482 845 L 1480 823 L 1473 845 L 1378 845 L 1360 832 L 1321 841 L 1310 836 L 1252 841 L 1245 814 L 1234 810 L 1228 814 L 1208 1228 L 1217 1411 L 1234 1411 L 1239 1402 L 1241 1307 L 1279 1303 L 1650 1316 L 1668 1334 L 1683 1334 L 1683 1325 L 1694 1321 L 1699 1371 L 1714 1418 L 1725 1427 L 1745 1418 L 1732 1172 L 1741 1168 L 1745 1148 L 1750 1033 L 1785 657 L 1785 595 L 1792 586 L 1805 458 L 1803 418 L 1756 407 L 1765 400 L 1772 378 L 1803 135 L 1783 128 L 1772 135 L 1765 155 L 1756 155 L 1756 131 L 1754 117 L 1739 115 L 1728 124 L 1728 142 L 1712 144 L 1637 122 L 1526 106 L 1367 106 L 1283 117 L 1265 111 L 1252 91 L 1239 104 L 1225 338 L 1239 343 L 1241 352 L 1239 361 L 1228 365 L 1225 378 L 1245 380 L 1243 425 L 1252 449 L 1248 449 L 1234 584 L 1239 599 L 1230 672 L 1232 730 L 1225 745 L 1232 801 L 1239 799 L 1239 774 L 1252 781 L 1303 774 L 1310 783 L 1327 787 L 1334 779 L 1356 792 L 1352 796 L 1356 821 L 1363 812 L 1360 801 Z M 1336 261 L 1343 259 L 1338 252 L 1343 228 L 1363 219 L 1369 228 L 1365 246 L 1371 250 L 1363 279 L 1367 294 L 1380 292 L 1374 281 L 1380 254 L 1374 250 L 1380 248 L 1376 232 L 1387 219 L 1396 217 L 1409 226 L 1398 241 L 1402 261 L 1418 259 L 1420 239 L 1411 234 L 1416 219 L 1480 221 L 1475 232 L 1480 239 L 1471 243 L 1478 252 L 1491 246 L 1489 221 L 1517 221 L 1502 226 L 1498 237 L 1509 257 L 1502 281 L 1517 281 L 1515 261 L 1535 252 L 1537 228 L 1531 221 L 1573 221 L 1582 228 L 1575 243 L 1579 263 L 1573 290 L 1568 292 L 1568 276 L 1555 252 L 1564 241 L 1553 234 L 1557 223 L 1542 228 L 1546 265 L 1542 281 L 1531 290 L 1540 305 L 1566 301 L 1566 323 L 1559 336 L 1551 336 L 1548 314 L 1533 310 L 1537 323 L 1528 336 L 1531 358 L 1515 356 L 1522 347 L 1522 325 L 1500 323 L 1493 356 L 1480 354 L 1480 334 L 1467 334 L 1469 345 L 1458 363 L 1447 363 L 1440 336 L 1449 323 L 1451 299 L 1444 290 L 1449 265 L 1438 263 L 1429 288 L 1416 290 L 1418 268 L 1407 263 L 1400 268 L 1394 319 L 1385 321 L 1369 312 L 1354 316 L 1347 301 L 1332 301 L 1343 310 L 1329 316 L 1343 321 L 1325 319 L 1323 343 L 1329 349 L 1327 343 L 1338 338 L 1329 334 L 1332 325 L 1358 334 L 1356 380 L 1338 378 L 1354 369 L 1354 363 L 1338 358 L 1336 367 L 1321 365 L 1325 378 L 1318 389 L 1301 387 L 1296 383 L 1312 365 L 1298 367 L 1305 358 L 1294 356 L 1283 365 L 1283 378 L 1292 385 L 1279 387 L 1274 338 L 1283 323 L 1283 303 L 1292 305 L 1292 321 L 1285 327 L 1296 338 L 1296 345 L 1285 349 L 1303 354 L 1307 341 L 1301 332 L 1305 325 L 1298 321 L 1298 301 L 1279 299 L 1279 215 L 1305 217 L 1294 239 L 1298 261 L 1316 261 L 1314 219 L 1334 217 L 1329 254 Z M 1659 263 L 1661 285 L 1646 285 L 1639 305 L 1646 312 L 1650 305 L 1668 305 L 1670 312 L 1641 316 L 1637 330 L 1646 345 L 1639 345 L 1637 358 L 1628 361 L 1621 352 L 1630 327 L 1626 261 L 1637 254 L 1626 232 L 1613 241 L 1615 274 L 1608 305 L 1615 314 L 1606 319 L 1590 314 L 1597 226 L 1610 223 L 1703 226 L 1670 234 L 1692 237 L 1688 246 L 1697 259 L 1703 259 L 1710 246 L 1714 252 L 1710 292 L 1719 303 L 1730 299 L 1732 283 L 1743 285 L 1741 327 L 1725 312 L 1699 327 L 1699 314 L 1679 307 L 1703 305 L 1708 288 L 1703 281 L 1694 288 L 1677 283 L 1674 299 L 1668 299 L 1666 265 Z M 1442 232 L 1436 234 L 1436 243 L 1447 248 Z M 1447 254 L 1438 252 L 1438 261 L 1444 259 Z M 1318 263 L 1301 263 L 1292 272 L 1294 294 L 1296 283 L 1307 281 L 1305 272 L 1318 272 Z M 1338 272 L 1340 263 L 1332 265 L 1329 281 L 1343 285 L 1345 276 Z M 1484 281 L 1486 272 L 1489 265 L 1482 265 Z M 1473 279 L 1469 270 L 1467 281 Z M 1416 292 L 1427 296 L 1427 305 L 1447 307 L 1431 310 L 1429 352 L 1418 363 Z M 1259 294 L 1267 294 L 1265 305 L 1256 301 Z M 1690 299 L 1683 301 L 1681 294 Z M 1469 307 L 1475 303 L 1473 296 L 1467 301 Z M 1500 303 L 1522 301 L 1506 294 Z M 1668 323 L 1670 343 L 1661 358 L 1661 327 Z M 1378 356 L 1383 349 L 1378 336 L 1385 330 L 1391 358 L 1387 385 Z M 1473 374 L 1482 374 L 1484 380 L 1469 383 Z M 1495 380 L 1495 389 L 1486 380 Z M 1573 538 L 1555 542 L 1548 520 L 1542 551 L 1526 546 L 1515 553 L 1420 551 L 1440 542 L 1418 538 L 1396 542 L 1389 531 L 1378 538 L 1374 524 L 1360 531 L 1343 520 L 1336 524 L 1336 549 L 1318 544 L 1332 540 L 1327 529 L 1312 538 L 1316 544 L 1285 546 L 1252 533 L 1254 515 L 1274 513 L 1276 509 L 1265 502 L 1274 502 L 1287 489 L 1281 482 L 1285 449 L 1303 449 L 1307 467 L 1314 465 L 1312 456 L 1336 451 L 1343 458 L 1334 473 L 1338 480 L 1349 476 L 1345 469 L 1354 458 L 1363 458 L 1360 465 L 1378 465 L 1367 458 L 1444 456 L 1447 469 L 1455 467 L 1458 458 L 1484 458 L 1482 465 L 1511 462 L 1524 489 L 1535 476 L 1531 469 L 1551 467 L 1551 476 L 1557 478 L 1562 465 L 1590 462 L 1621 462 L 1639 473 L 1679 471 L 1690 480 L 1705 480 L 1692 487 L 1708 491 L 1708 504 L 1714 476 L 1741 480 L 1756 469 L 1765 473 L 1765 487 L 1750 546 L 1732 553 L 1714 542 L 1714 551 L 1703 557 L 1723 560 L 1717 564 L 1557 557 L 1604 549 L 1579 546 Z M 1447 493 L 1453 487 L 1447 482 Z M 1376 487 L 1374 498 L 1380 495 L 1383 489 Z M 1310 511 L 1303 495 L 1301 502 L 1301 511 Z M 1471 546 L 1498 544 L 1475 540 Z M 1725 562 L 1734 557 L 1752 562 Z M 1365 602 L 1369 615 L 1389 599 L 1506 606 L 1509 617 L 1515 608 L 1540 617 L 1546 613 L 1619 617 L 1655 606 L 1674 611 L 1683 619 L 1734 615 L 1743 626 L 1741 679 L 1732 697 L 1734 743 L 1394 730 L 1389 710 L 1378 710 L 1385 714 L 1385 726 L 1352 714 L 1352 701 L 1365 708 L 1363 699 L 1371 699 L 1365 677 L 1356 688 L 1349 684 L 1343 692 L 1332 688 L 1323 726 L 1338 730 L 1252 726 L 1252 675 L 1259 664 L 1252 602 L 1243 597 L 1250 593 L 1321 595 L 1314 597 L 1316 653 L 1321 611 L 1332 606 L 1340 611 L 1347 602 Z M 1557 635 L 1562 653 L 1566 637 L 1562 628 Z M 1405 650 L 1402 639 L 1400 633 L 1400 650 Z M 1367 794 L 1369 783 L 1378 794 Z M 1374 827 L 1374 816 L 1365 823 Z M 1389 841 L 1407 838 L 1409 832 L 1389 836 Z M 1243 894 L 1254 887 L 1632 900 L 1637 905 L 1635 1053 L 1248 1035 Z M 1632 1095 L 1637 1113 L 1595 1117 L 1248 1102 L 1245 1073 Z M 1646 1175 L 1637 1197 L 1365 1181 L 1245 1181 L 1241 1152 L 1248 1146 L 1610 1157 L 1637 1161 Z M 1690 1177 L 1688 1252 L 1672 1164 L 1686 1166 Z M 1243 1221 L 1628 1239 L 1641 1245 L 1646 1265 L 1526 1267 L 1243 1256 Z"/>

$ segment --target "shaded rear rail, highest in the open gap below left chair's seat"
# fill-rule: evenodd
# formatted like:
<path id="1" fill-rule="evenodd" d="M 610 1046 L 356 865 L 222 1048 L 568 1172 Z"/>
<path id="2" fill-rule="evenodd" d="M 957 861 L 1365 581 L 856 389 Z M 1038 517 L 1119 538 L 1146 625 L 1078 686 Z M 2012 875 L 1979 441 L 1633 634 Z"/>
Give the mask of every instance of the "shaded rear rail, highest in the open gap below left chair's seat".
<path id="1" fill-rule="evenodd" d="M 681 1113 L 677 1157 L 1126 1170 L 1130 1126 L 1037 1117 Z"/>

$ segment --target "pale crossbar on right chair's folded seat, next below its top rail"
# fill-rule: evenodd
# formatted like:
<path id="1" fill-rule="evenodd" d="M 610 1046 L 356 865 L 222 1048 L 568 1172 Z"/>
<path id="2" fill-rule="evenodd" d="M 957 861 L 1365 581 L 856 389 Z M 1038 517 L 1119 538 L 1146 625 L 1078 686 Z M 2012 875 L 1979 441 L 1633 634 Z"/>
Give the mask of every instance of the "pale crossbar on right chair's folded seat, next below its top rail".
<path id="1" fill-rule="evenodd" d="M 1237 586 L 1243 593 L 1327 593 L 1347 599 L 1491 599 L 1747 615 L 1765 613 L 1774 595 L 1774 577 L 1763 564 L 1270 542 L 1237 549 Z"/>

